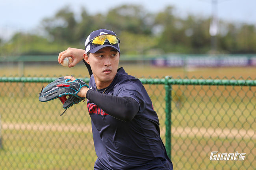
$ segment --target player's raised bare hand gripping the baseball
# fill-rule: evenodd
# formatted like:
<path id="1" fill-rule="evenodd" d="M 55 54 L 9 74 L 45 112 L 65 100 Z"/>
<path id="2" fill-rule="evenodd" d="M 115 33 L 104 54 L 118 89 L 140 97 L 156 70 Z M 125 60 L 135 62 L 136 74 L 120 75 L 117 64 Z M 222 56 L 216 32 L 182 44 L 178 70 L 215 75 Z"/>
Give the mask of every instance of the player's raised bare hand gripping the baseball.
<path id="1" fill-rule="evenodd" d="M 59 53 L 58 62 L 61 63 L 65 57 L 72 57 L 73 62 L 69 64 L 69 67 L 74 67 L 78 62 L 83 60 L 84 49 L 68 48 L 65 51 Z"/>

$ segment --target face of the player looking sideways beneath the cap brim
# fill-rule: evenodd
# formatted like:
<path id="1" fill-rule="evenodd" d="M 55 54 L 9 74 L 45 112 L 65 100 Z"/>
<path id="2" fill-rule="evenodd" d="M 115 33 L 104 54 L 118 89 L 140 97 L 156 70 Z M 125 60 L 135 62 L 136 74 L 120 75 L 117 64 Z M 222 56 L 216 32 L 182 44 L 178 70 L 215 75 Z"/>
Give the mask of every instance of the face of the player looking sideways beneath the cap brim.
<path id="1" fill-rule="evenodd" d="M 95 82 L 112 82 L 117 73 L 119 64 L 119 52 L 111 47 L 105 47 L 96 53 L 85 56 L 85 61 L 89 61 Z"/>

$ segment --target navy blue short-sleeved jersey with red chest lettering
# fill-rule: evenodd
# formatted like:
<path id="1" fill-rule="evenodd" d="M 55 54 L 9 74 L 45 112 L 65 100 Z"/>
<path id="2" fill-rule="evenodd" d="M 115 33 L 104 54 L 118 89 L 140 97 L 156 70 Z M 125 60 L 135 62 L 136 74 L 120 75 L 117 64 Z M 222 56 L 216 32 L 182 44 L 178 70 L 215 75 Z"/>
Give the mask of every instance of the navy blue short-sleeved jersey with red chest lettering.
<path id="1" fill-rule="evenodd" d="M 89 88 L 96 90 L 93 75 Z M 139 103 L 139 112 L 132 121 L 126 122 L 108 115 L 87 100 L 98 157 L 95 170 L 172 170 L 173 165 L 160 138 L 157 113 L 139 79 L 119 68 L 108 88 L 98 91 L 118 97 L 132 97 Z"/>

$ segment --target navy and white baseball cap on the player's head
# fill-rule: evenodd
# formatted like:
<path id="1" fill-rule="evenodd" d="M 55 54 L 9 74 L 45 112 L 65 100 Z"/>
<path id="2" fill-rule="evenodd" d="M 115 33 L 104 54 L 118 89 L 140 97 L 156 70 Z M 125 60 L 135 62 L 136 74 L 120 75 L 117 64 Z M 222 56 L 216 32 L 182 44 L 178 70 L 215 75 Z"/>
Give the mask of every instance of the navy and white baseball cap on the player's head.
<path id="1" fill-rule="evenodd" d="M 93 43 L 93 40 L 95 40 L 95 38 L 99 37 L 100 35 L 106 35 L 104 36 L 105 37 L 104 41 L 101 42 L 101 44 Z M 106 38 L 106 37 L 109 37 L 109 38 Z M 115 34 L 115 32 L 110 31 L 108 29 L 98 29 L 96 31 L 91 32 L 91 34 L 85 40 L 85 53 L 88 53 L 88 52 L 96 53 L 98 50 L 104 47 L 112 47 L 120 53 L 119 42 L 120 40 L 119 38 L 117 38 L 117 35 Z"/>

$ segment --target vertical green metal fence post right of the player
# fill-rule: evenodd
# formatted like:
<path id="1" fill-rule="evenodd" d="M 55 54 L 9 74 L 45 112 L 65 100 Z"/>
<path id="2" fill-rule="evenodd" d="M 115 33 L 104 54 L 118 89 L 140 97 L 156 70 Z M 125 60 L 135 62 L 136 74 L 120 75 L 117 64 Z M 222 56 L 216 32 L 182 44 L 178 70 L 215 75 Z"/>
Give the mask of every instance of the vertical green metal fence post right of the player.
<path id="1" fill-rule="evenodd" d="M 168 83 L 169 76 L 165 76 L 165 148 L 171 159 L 171 100 L 172 86 Z"/>

